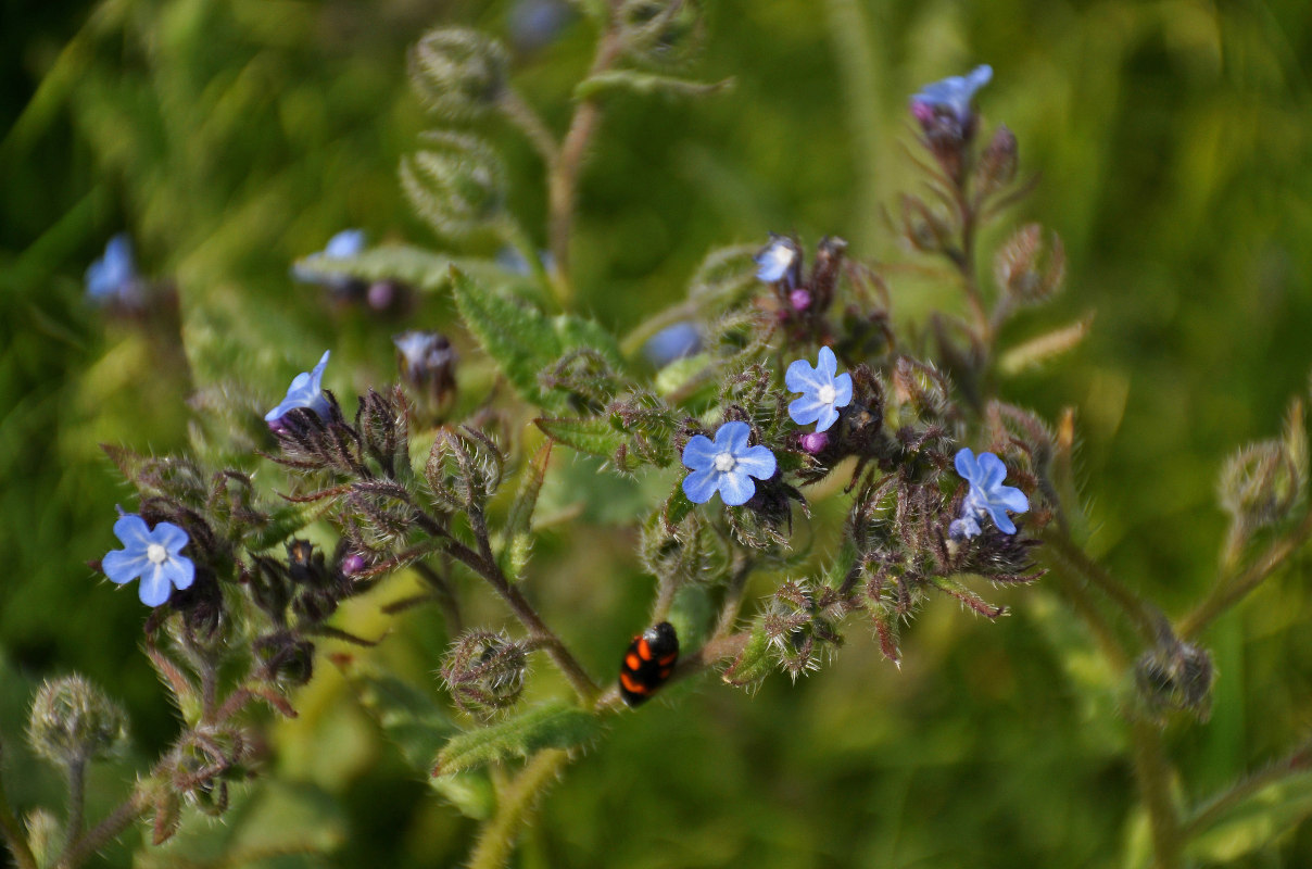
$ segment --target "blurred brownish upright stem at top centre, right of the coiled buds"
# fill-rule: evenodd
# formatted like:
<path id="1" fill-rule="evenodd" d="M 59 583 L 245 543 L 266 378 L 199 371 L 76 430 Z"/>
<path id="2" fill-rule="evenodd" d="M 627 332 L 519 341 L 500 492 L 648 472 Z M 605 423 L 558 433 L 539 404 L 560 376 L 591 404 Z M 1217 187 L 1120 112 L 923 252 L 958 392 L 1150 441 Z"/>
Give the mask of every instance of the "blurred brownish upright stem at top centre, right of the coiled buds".
<path id="1" fill-rule="evenodd" d="M 588 76 L 594 76 L 609 70 L 619 58 L 621 50 L 619 32 L 614 22 L 614 16 L 611 16 L 597 43 L 597 55 L 593 58 L 592 70 L 589 70 Z M 573 118 L 569 121 L 569 130 L 560 143 L 556 159 L 551 163 L 547 179 L 548 238 L 551 240 L 551 257 L 554 260 L 552 269 L 556 281 L 556 295 L 564 306 L 573 299 L 569 240 L 573 235 L 579 171 L 583 167 L 584 156 L 588 154 L 588 143 L 597 131 L 600 122 L 601 105 L 597 97 L 583 97 L 577 108 L 575 108 Z"/>

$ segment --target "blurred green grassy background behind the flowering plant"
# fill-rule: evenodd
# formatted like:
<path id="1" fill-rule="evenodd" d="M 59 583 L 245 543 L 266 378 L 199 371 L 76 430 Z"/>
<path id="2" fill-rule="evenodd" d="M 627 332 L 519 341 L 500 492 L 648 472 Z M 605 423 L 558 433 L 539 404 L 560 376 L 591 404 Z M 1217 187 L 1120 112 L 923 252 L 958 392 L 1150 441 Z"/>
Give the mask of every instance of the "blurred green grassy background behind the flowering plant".
<path id="1" fill-rule="evenodd" d="M 985 242 L 1038 219 L 1069 255 L 1065 294 L 1013 337 L 1097 312 L 1073 357 L 1002 392 L 1050 419 L 1076 408 L 1090 549 L 1168 613 L 1187 609 L 1224 532 L 1220 462 L 1278 432 L 1312 368 L 1305 0 L 707 7 L 687 72 L 733 76 L 736 88 L 607 101 L 581 184 L 580 307 L 623 332 L 677 301 L 708 249 L 770 230 L 807 245 L 838 234 L 857 256 L 908 259 L 880 215 L 920 184 L 903 151 L 907 97 L 992 63 L 984 122 L 1015 131 L 1022 167 L 1042 182 Z M 404 53 L 455 22 L 505 39 L 516 84 L 563 130 L 593 46 L 567 11 L 537 34 L 525 32 L 525 3 L 0 11 L 0 734 L 20 806 L 59 793 L 16 753 L 43 676 L 80 671 L 131 713 L 135 752 L 97 772 L 101 805 L 173 734 L 139 651 L 143 608 L 85 564 L 117 546 L 114 504 L 131 507 L 97 444 L 181 448 L 195 385 L 244 381 L 272 404 L 323 348 L 335 350 L 338 394 L 387 382 L 394 332 L 450 323 L 442 298 L 408 320 L 333 311 L 289 264 L 348 226 L 442 249 L 411 214 L 396 165 L 437 125 L 407 85 Z M 537 158 L 509 127 L 483 130 L 508 161 L 513 210 L 544 245 Z M 189 370 L 84 298 L 87 264 L 125 230 L 143 272 L 177 282 Z M 950 284 L 897 272 L 891 284 L 900 320 L 958 305 Z M 564 449 L 558 462 L 559 496 L 586 496 L 569 486 L 590 473 L 571 470 Z M 632 512 L 617 512 L 558 529 L 534 561 L 546 614 L 607 673 L 651 593 Z M 1307 735 L 1304 567 L 1204 638 L 1220 672 L 1214 715 L 1168 731 L 1191 801 Z M 357 601 L 348 622 L 380 633 L 378 605 L 408 582 Z M 875 643 L 850 642 L 795 687 L 781 676 L 749 697 L 703 679 L 618 718 L 550 792 L 517 865 L 1138 865 L 1144 830 L 1115 717 L 1119 675 L 1099 667 L 1042 583 L 1006 603 L 1013 617 L 987 624 L 935 600 L 901 669 Z M 487 616 L 501 617 L 491 605 Z M 432 684 L 446 642 L 441 620 L 419 612 L 374 656 Z M 273 731 L 281 790 L 261 790 L 223 835 L 257 837 L 260 823 L 303 811 L 332 845 L 327 865 L 461 858 L 472 822 L 405 769 L 331 666 L 298 706 L 302 717 Z M 126 865 L 129 851 L 109 860 Z M 1312 830 L 1236 865 L 1312 865 Z"/>

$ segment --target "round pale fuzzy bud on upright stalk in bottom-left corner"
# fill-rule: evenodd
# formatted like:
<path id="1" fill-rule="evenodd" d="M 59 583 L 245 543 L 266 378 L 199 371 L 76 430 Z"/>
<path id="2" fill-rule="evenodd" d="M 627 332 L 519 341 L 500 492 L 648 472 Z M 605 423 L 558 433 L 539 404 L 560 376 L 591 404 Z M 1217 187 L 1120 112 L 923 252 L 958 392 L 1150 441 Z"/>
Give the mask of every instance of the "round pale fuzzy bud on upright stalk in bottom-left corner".
<path id="1" fill-rule="evenodd" d="M 64 676 L 37 692 L 28 739 L 46 760 L 72 767 L 122 748 L 127 742 L 127 714 L 81 676 Z"/>

